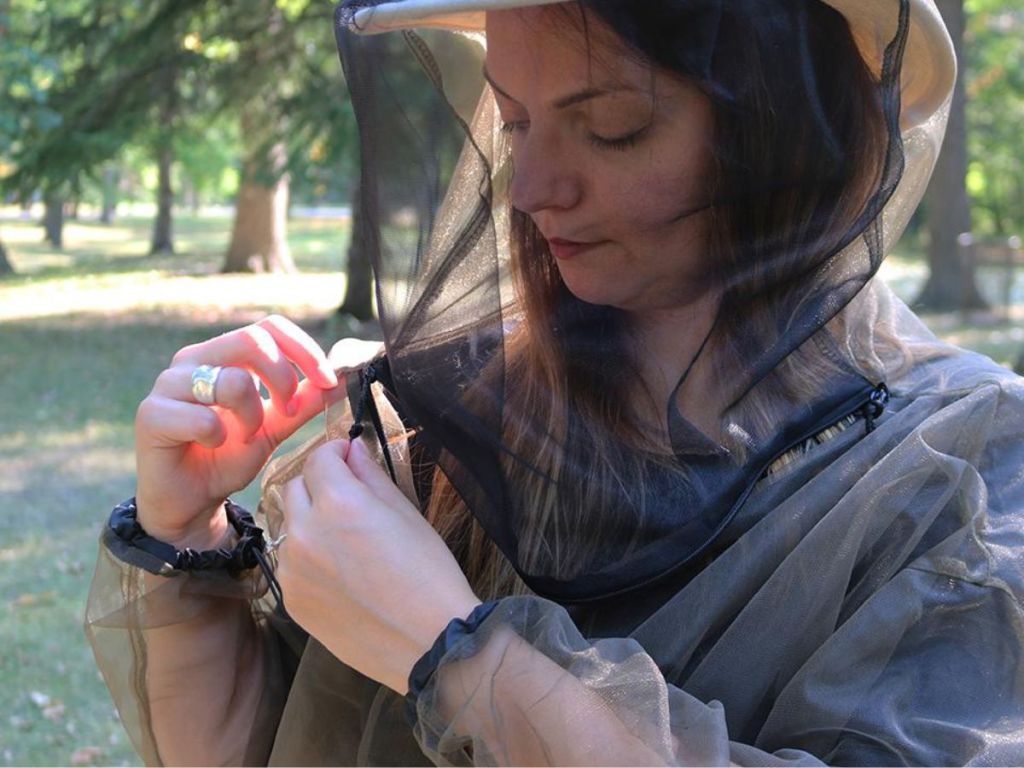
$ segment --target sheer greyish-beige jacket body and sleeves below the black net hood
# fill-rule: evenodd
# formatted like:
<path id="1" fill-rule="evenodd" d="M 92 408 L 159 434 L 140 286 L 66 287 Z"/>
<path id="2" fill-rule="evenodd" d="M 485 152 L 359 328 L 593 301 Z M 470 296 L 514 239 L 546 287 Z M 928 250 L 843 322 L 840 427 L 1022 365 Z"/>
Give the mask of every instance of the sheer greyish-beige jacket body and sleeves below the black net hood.
<path id="1" fill-rule="evenodd" d="M 163 732 L 207 764 L 1020 764 L 1024 385 L 881 286 L 856 307 L 900 339 L 879 344 L 889 366 L 914 361 L 872 432 L 762 480 L 710 564 L 628 605 L 500 600 L 442 658 L 415 728 L 255 579 L 153 577 L 101 548 L 87 632 L 139 754 L 161 762 Z M 176 672 L 179 700 L 150 701 L 147 657 L 213 611 L 237 612 L 237 642 L 214 671 Z M 204 722 L 212 695 L 258 714 Z"/>

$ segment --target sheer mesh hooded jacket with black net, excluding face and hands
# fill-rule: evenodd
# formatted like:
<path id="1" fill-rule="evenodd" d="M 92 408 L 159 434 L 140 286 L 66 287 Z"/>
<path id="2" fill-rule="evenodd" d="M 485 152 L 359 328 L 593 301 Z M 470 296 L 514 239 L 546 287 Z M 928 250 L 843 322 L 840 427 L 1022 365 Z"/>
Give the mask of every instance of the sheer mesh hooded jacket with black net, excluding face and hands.
<path id="1" fill-rule="evenodd" d="M 629 317 L 559 290 L 510 202 L 483 12 L 515 5 L 567 36 L 584 19 L 595 57 L 613 30 L 714 110 L 720 183 L 678 216 L 727 232 L 721 305 L 654 408 Z M 292 624 L 258 571 L 158 575 L 104 529 L 86 633 L 139 755 L 188 733 L 207 764 L 1021 764 L 1024 382 L 874 278 L 945 126 L 932 0 L 537 5 L 358 0 L 336 25 L 386 348 L 359 439 L 432 520 L 461 521 L 445 536 L 496 607 L 407 701 Z M 270 536 L 352 401 L 268 466 Z M 225 616 L 216 673 L 161 665 L 180 695 L 151 696 L 150 659 Z M 189 705 L 211 699 L 223 720 Z"/>

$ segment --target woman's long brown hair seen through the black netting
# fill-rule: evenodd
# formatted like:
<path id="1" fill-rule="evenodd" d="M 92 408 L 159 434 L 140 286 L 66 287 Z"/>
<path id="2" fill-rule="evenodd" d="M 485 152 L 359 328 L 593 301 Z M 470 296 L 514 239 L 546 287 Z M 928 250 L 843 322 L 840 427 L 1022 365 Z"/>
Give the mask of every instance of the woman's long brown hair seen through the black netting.
<path id="1" fill-rule="evenodd" d="M 741 102 L 720 103 L 718 91 L 707 89 L 716 103 L 713 191 L 719 200 L 741 204 L 707 212 L 708 262 L 720 267 L 720 313 L 741 313 L 744 322 L 733 327 L 741 334 L 724 326 L 717 329 L 705 349 L 710 364 L 722 372 L 743 359 L 751 345 L 763 345 L 784 327 L 788 318 L 780 316 L 778 307 L 792 308 L 793 302 L 782 297 L 800 285 L 815 258 L 845 245 L 841 239 L 863 214 L 883 172 L 889 138 L 878 82 L 844 17 L 818 0 L 778 2 L 806 6 L 807 39 L 812 41 L 808 55 L 826 99 L 829 144 L 819 141 L 820 116 L 795 102 L 784 74 L 776 72 L 770 60 L 776 51 L 750 34 L 758 19 L 726 24 L 720 32 L 726 50 L 716 82 L 735 85 L 733 92 L 741 95 Z M 656 16 L 658 8 L 685 5 L 595 0 L 551 6 L 545 12 L 557 14 L 552 23 L 583 31 L 586 37 L 593 11 L 597 19 L 622 32 L 637 55 L 706 87 L 707 73 L 691 71 L 681 50 L 685 13 L 644 18 Z M 670 18 L 675 28 L 668 24 Z M 819 183 L 808 184 L 808 178 Z M 772 184 L 752 191 L 752 179 L 771 179 Z M 584 563 L 595 562 L 602 539 L 612 535 L 581 524 L 587 511 L 614 504 L 608 497 L 617 496 L 615 489 L 621 488 L 640 500 L 633 513 L 642 517 L 642 486 L 651 468 L 673 463 L 652 444 L 650 431 L 631 404 L 637 401 L 637 381 L 629 372 L 636 367 L 629 362 L 634 350 L 622 313 L 572 296 L 530 218 L 514 210 L 511 240 L 519 317 L 506 338 L 503 437 L 510 453 L 535 458 L 529 470 L 511 463 L 506 467 L 509 484 L 522 495 L 521 508 L 529 511 L 519 530 L 519 561 L 528 568 L 543 557 L 561 568 L 551 575 L 570 578 Z M 751 244 L 757 248 L 752 250 Z M 842 316 L 834 323 L 842 324 Z M 589 339 L 601 343 L 588 345 Z M 816 347 L 796 350 L 770 374 L 770 385 L 759 386 L 756 396 L 745 397 L 741 412 L 730 413 L 730 419 L 755 429 L 777 423 L 779 414 L 801 401 L 809 372 L 814 380 L 814 372 L 824 374 L 833 365 Z M 801 375 L 794 373 L 797 370 Z M 729 447 L 741 460 L 742 445 Z M 555 493 L 566 467 L 573 476 L 592 481 L 558 486 Z M 525 590 L 440 471 L 435 472 L 427 515 L 481 598 Z M 629 522 L 616 525 L 614 535 L 628 530 Z"/>

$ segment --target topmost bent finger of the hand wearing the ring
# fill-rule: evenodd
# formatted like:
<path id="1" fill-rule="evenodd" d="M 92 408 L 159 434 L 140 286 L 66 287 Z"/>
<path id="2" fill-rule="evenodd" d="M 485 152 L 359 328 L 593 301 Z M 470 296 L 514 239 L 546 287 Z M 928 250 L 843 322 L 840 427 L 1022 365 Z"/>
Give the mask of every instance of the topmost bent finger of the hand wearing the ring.
<path id="1" fill-rule="evenodd" d="M 242 367 L 254 371 L 270 392 L 275 409 L 288 411 L 299 377 L 274 337 L 260 326 L 247 326 L 214 339 L 184 347 L 172 368 L 198 366 Z"/>

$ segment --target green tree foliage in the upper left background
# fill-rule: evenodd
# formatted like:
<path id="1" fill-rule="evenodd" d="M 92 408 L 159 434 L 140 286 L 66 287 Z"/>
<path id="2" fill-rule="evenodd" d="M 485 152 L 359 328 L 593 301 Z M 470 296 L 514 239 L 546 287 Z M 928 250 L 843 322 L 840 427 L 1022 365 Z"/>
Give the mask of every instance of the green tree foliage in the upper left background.
<path id="1" fill-rule="evenodd" d="M 220 197 L 242 159 L 238 116 L 256 109 L 259 140 L 287 141 L 300 198 L 347 198 L 354 127 L 332 3 L 8 1 L 0 194 L 94 196 L 101 169 L 127 147 L 170 140 L 190 190 Z"/>

